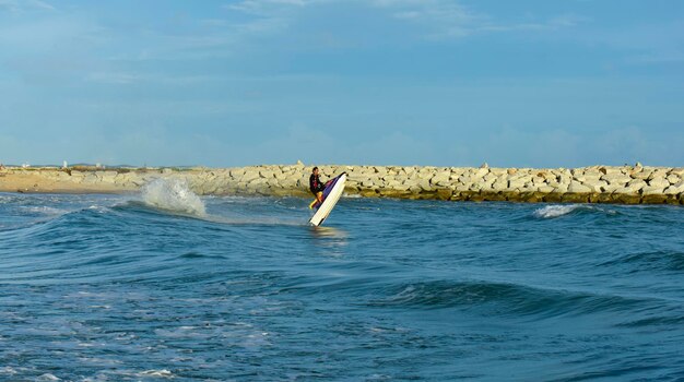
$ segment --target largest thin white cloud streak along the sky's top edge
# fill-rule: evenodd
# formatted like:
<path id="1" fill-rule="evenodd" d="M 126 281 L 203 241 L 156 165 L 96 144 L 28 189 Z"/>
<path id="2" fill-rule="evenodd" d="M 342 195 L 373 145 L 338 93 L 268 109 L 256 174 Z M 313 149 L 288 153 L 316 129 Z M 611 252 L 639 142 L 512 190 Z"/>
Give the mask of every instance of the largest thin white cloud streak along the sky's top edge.
<path id="1" fill-rule="evenodd" d="M 459 39 L 476 34 L 553 32 L 574 27 L 587 21 L 573 14 L 524 23 L 502 21 L 476 10 L 473 5 L 467 7 L 453 0 L 241 0 L 223 5 L 225 11 L 243 19 L 240 23 L 232 23 L 224 29 L 231 29 L 232 36 L 241 41 L 252 36 L 286 35 L 286 32 L 297 29 L 299 25 L 307 25 L 310 17 L 319 14 L 319 11 L 327 15 L 329 10 L 326 9 L 339 7 L 352 8 L 359 15 L 379 14 L 380 17 L 385 15 L 386 20 L 378 20 L 378 25 L 384 25 L 387 17 L 406 24 L 408 27 L 401 32 L 403 37 L 397 38 L 433 40 Z M 220 25 L 216 21 L 212 24 Z M 373 36 L 362 36 L 363 31 L 359 33 L 355 28 L 341 31 L 318 27 L 320 34 L 308 33 L 306 36 L 326 34 L 333 36 L 337 41 L 345 41 L 343 46 L 373 44 Z M 382 44 L 388 44 L 387 39 Z"/>

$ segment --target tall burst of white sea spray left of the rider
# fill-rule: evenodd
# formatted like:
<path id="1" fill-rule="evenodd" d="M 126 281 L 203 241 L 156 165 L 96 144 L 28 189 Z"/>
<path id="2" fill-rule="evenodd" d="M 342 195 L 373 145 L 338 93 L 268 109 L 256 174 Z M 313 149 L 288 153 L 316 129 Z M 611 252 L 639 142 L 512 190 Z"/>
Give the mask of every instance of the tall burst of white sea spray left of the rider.
<path id="1" fill-rule="evenodd" d="M 197 216 L 205 216 L 202 200 L 190 191 L 182 179 L 155 179 L 142 189 L 142 200 L 148 205 Z"/>

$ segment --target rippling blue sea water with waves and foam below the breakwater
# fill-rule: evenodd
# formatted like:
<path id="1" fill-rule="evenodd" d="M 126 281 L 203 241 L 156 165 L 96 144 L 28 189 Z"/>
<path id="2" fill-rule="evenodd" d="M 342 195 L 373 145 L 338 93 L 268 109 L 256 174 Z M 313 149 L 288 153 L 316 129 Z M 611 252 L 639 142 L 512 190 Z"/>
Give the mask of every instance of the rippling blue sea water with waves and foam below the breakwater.
<path id="1" fill-rule="evenodd" d="M 684 208 L 0 193 L 0 380 L 684 379 Z"/>

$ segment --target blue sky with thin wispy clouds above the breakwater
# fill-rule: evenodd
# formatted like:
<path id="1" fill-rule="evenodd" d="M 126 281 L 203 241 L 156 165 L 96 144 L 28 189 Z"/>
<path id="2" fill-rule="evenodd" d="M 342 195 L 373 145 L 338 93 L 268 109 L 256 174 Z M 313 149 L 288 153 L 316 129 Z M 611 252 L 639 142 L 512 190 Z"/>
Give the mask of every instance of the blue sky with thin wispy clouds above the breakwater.
<path id="1" fill-rule="evenodd" d="M 680 0 L 0 0 L 0 163 L 684 166 Z"/>

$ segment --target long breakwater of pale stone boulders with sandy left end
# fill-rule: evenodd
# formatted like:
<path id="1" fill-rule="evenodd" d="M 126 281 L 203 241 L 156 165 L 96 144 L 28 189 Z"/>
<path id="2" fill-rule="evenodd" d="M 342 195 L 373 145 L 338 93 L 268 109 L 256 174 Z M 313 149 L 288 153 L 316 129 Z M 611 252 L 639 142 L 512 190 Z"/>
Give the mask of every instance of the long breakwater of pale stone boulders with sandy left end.
<path id="1" fill-rule="evenodd" d="M 236 168 L 16 168 L 5 192 L 131 192 L 154 179 L 185 181 L 201 195 L 310 196 L 312 166 Z M 345 193 L 449 201 L 684 204 L 684 167 L 490 168 L 320 165 L 321 179 L 349 174 Z"/>

